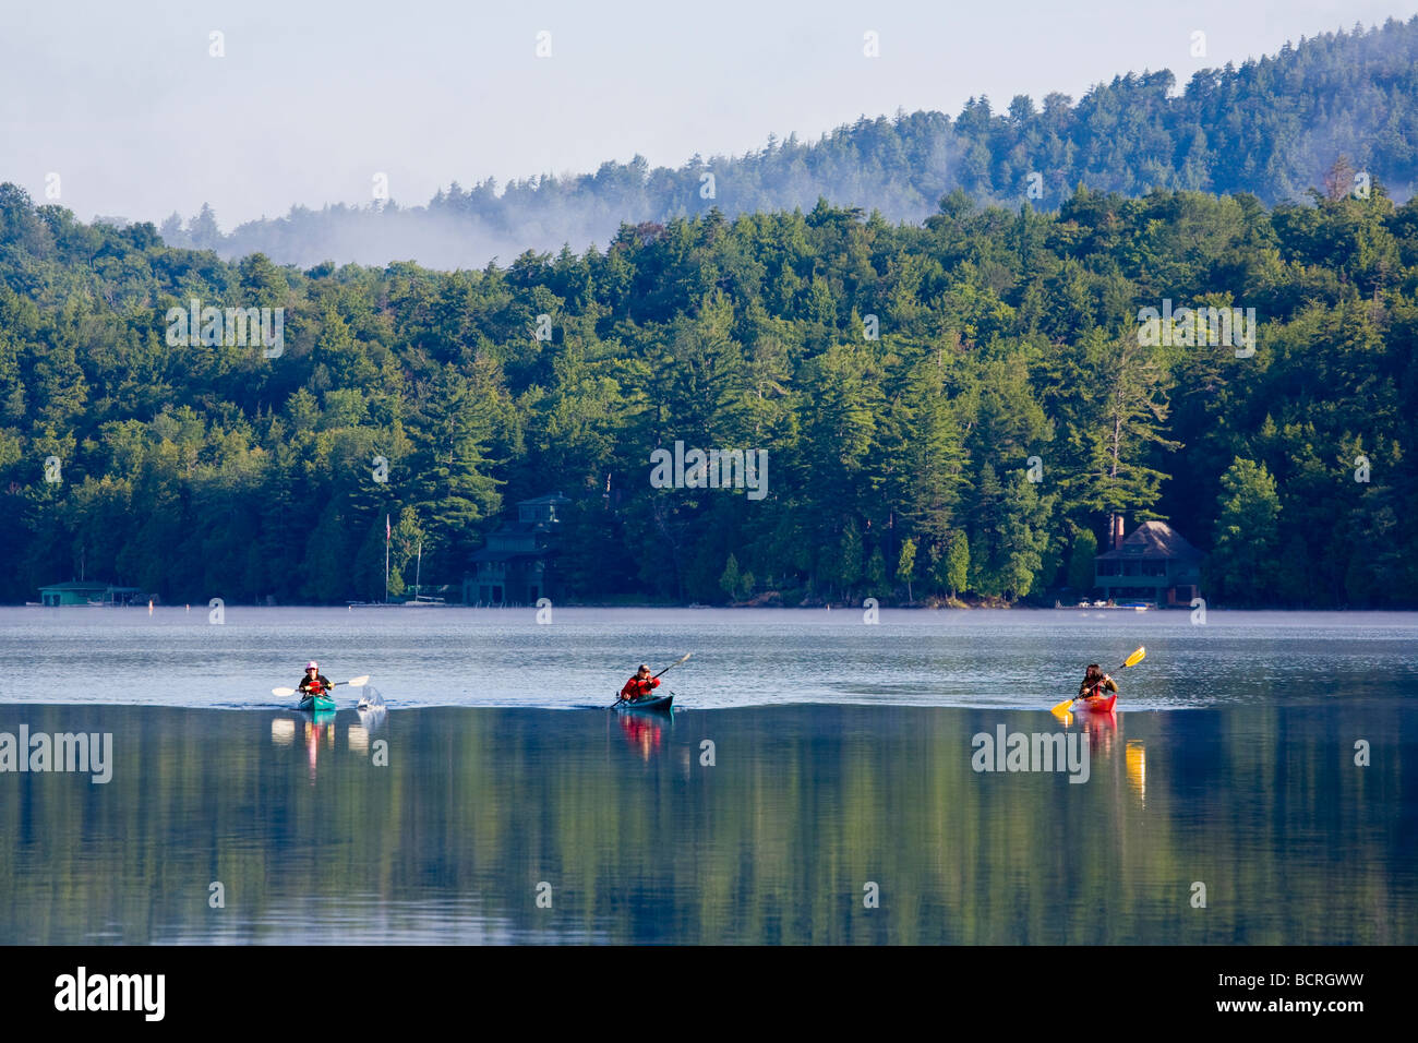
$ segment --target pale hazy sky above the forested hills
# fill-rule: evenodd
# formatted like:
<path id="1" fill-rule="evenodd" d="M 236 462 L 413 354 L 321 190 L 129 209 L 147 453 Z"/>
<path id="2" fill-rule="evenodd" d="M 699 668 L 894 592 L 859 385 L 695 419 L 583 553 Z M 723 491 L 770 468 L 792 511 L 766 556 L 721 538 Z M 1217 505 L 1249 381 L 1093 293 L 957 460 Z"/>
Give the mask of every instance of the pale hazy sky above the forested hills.
<path id="1" fill-rule="evenodd" d="M 452 180 L 594 172 L 637 152 L 678 166 L 864 114 L 954 116 L 971 95 L 997 111 L 1015 94 L 1076 99 L 1129 70 L 1170 68 L 1184 85 L 1286 40 L 1414 13 L 1384 0 L 0 0 L 0 182 L 44 200 L 57 173 L 58 202 L 85 220 L 210 202 L 230 230 L 292 203 L 366 203 L 376 172 L 418 204 Z"/>

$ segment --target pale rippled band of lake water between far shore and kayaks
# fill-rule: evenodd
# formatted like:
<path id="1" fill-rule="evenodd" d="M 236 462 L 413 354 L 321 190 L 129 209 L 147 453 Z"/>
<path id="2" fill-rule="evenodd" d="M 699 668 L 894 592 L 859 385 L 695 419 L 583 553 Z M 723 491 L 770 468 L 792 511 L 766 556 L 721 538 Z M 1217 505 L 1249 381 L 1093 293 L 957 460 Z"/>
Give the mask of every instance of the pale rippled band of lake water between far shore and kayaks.
<path id="1" fill-rule="evenodd" d="M 0 702 L 277 705 L 306 660 L 390 707 L 607 705 L 641 661 L 696 708 L 1048 707 L 1089 661 L 1143 710 L 1418 692 L 1418 614 L 716 609 L 0 609 Z"/>

